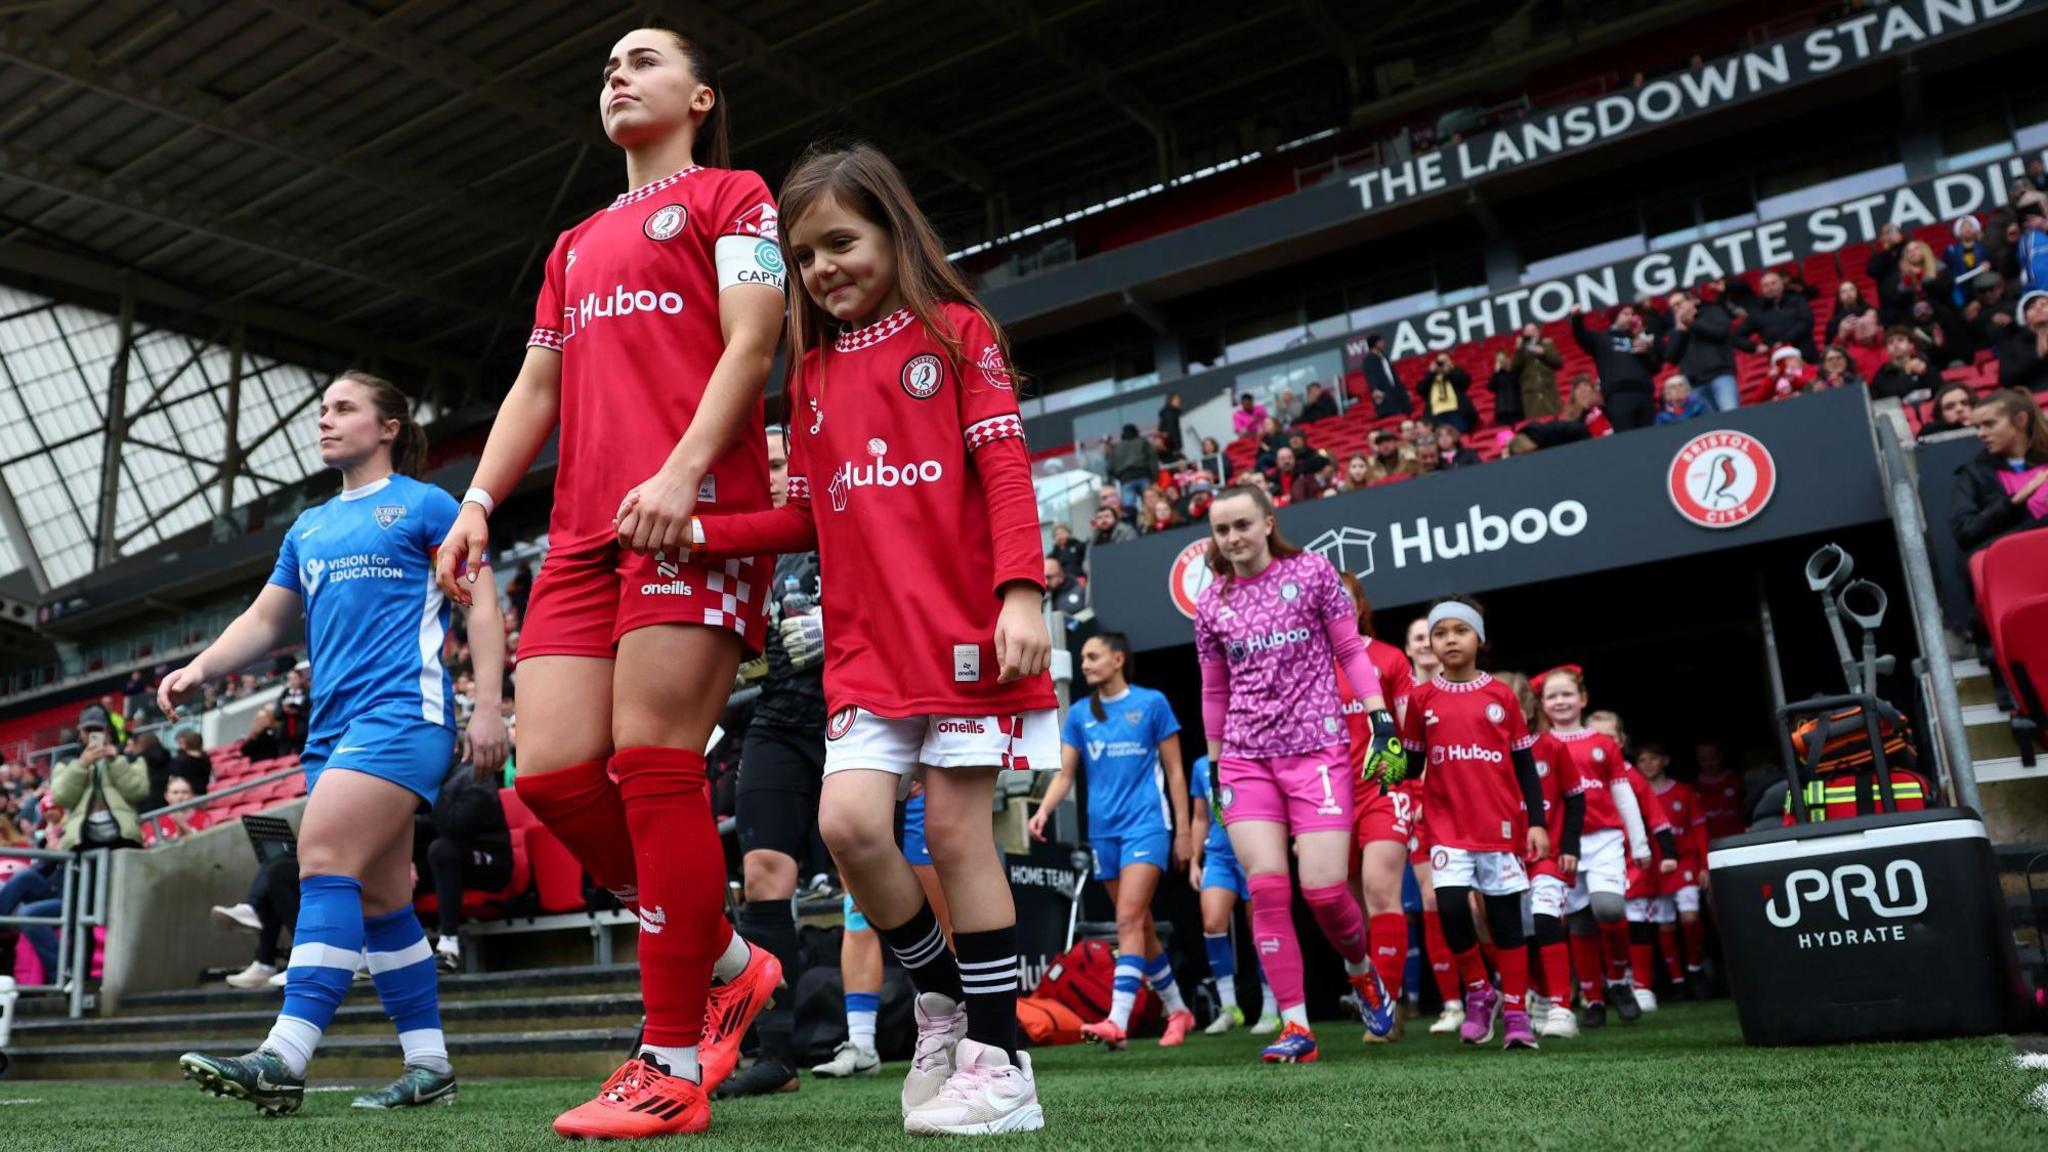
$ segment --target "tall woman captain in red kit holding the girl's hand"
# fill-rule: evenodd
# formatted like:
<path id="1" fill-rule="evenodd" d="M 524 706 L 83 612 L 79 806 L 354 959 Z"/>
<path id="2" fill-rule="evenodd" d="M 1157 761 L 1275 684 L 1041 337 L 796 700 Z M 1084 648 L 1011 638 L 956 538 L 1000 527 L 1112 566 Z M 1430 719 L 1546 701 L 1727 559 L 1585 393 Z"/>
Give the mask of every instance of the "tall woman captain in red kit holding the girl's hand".
<path id="1" fill-rule="evenodd" d="M 725 113 L 688 37 L 639 29 L 612 47 L 598 115 L 627 191 L 547 256 L 526 361 L 436 568 L 467 605 L 492 508 L 559 430 L 549 556 L 520 642 L 516 787 L 639 914 L 647 1009 L 641 1052 L 557 1117 L 569 1138 L 702 1132 L 780 980 L 725 922 L 705 789 L 713 724 L 741 652 L 764 640 L 770 568 L 692 564 L 686 535 L 696 510 L 770 506 L 760 396 L 782 256 L 768 187 L 727 168 Z"/>

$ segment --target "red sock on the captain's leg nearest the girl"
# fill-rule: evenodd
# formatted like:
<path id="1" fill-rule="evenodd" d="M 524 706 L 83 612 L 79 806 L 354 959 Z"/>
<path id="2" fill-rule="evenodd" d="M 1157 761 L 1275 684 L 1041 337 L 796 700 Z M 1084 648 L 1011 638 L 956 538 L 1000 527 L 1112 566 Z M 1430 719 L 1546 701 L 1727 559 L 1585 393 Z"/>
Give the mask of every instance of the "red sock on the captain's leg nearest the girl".
<path id="1" fill-rule="evenodd" d="M 621 748 L 618 795 L 639 875 L 643 1041 L 688 1047 L 705 1027 L 705 996 L 731 929 L 725 849 L 705 791 L 705 756 L 684 748 Z"/>

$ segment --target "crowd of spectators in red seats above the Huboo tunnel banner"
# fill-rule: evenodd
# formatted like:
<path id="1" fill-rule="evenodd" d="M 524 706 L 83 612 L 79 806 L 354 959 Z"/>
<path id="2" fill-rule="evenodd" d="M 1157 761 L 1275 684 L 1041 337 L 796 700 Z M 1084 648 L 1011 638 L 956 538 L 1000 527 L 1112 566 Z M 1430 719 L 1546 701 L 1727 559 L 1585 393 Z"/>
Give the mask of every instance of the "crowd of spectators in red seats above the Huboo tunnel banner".
<path id="1" fill-rule="evenodd" d="M 1958 219 L 1948 246 L 1896 225 L 1880 230 L 1862 269 L 1874 285 L 1868 293 L 1845 275 L 1833 299 L 1815 299 L 1794 264 L 1755 279 L 1708 279 L 1604 316 L 1575 310 L 1571 342 L 1591 367 L 1569 377 L 1556 338 L 1526 324 L 1493 357 L 1491 418 L 1475 406 L 1475 381 L 1452 353 L 1432 355 L 1403 381 L 1384 338 L 1366 336 L 1354 394 L 1370 406 L 1370 451 L 1337 457 L 1315 443 L 1317 422 L 1339 410 L 1331 385 L 1309 383 L 1300 398 L 1284 387 L 1266 402 L 1237 396 L 1233 445 L 1190 443 L 1171 394 L 1155 433 L 1124 424 L 1104 445 L 1110 488 L 1098 494 L 1087 539 L 1055 529 L 1053 558 L 1067 584 L 1085 592 L 1090 547 L 1198 521 L 1227 484 L 1264 488 L 1282 506 L 1401 484 L 1473 467 L 1479 447 L 1511 457 L 1726 412 L 1743 404 L 1745 377 L 1751 402 L 1759 379 L 1763 402 L 1864 387 L 1915 406 L 1929 433 L 1966 426 L 1974 392 L 1964 383 L 1962 396 L 1948 396 L 1944 369 L 1995 363 L 1999 385 L 2048 389 L 2048 172 L 2036 172 L 1982 219 Z M 1245 447 L 1233 453 L 1235 445 Z M 1233 463 L 1245 455 L 1249 465 Z"/>

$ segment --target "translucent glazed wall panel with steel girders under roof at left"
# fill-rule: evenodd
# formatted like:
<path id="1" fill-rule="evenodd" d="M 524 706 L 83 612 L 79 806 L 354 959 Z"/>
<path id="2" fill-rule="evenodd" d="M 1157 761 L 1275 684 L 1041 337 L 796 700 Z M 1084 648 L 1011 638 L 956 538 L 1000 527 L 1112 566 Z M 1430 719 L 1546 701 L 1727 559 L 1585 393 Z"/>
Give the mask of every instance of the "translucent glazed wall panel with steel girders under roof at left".
<path id="1" fill-rule="evenodd" d="M 0 287 L 0 574 L 59 588 L 303 482 L 319 453 L 293 433 L 317 412 L 322 383 L 229 342 Z"/>

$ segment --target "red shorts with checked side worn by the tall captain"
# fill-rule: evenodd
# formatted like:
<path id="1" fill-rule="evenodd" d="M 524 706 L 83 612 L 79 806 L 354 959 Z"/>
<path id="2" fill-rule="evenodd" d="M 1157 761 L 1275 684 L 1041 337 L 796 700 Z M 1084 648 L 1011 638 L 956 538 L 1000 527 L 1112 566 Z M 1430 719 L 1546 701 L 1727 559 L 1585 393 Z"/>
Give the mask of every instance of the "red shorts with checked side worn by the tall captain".
<path id="1" fill-rule="evenodd" d="M 614 537 L 561 543 L 541 564 L 526 601 L 518 654 L 618 654 L 618 637 L 657 623 L 729 627 L 748 650 L 766 640 L 774 558 L 707 560 L 637 553 Z"/>

